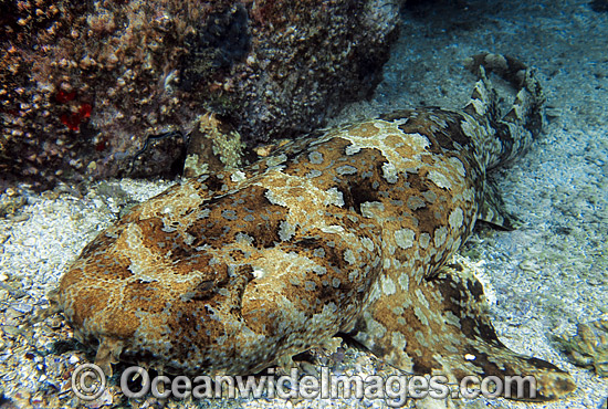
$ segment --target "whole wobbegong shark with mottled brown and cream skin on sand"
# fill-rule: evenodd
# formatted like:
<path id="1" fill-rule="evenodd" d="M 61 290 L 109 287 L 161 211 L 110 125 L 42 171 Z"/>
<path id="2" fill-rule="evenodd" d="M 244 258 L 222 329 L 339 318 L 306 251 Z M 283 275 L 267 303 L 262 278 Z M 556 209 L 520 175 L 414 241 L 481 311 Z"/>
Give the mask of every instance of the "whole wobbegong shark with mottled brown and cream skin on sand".
<path id="1" fill-rule="evenodd" d="M 494 54 L 463 111 L 407 109 L 294 140 L 243 170 L 190 179 L 102 232 L 55 301 L 96 360 L 244 375 L 347 333 L 407 371 L 533 375 L 536 399 L 574 389 L 517 355 L 483 289 L 449 264 L 486 202 L 486 170 L 522 153 L 543 104 L 532 71 Z M 485 71 L 518 90 L 500 117 Z"/>

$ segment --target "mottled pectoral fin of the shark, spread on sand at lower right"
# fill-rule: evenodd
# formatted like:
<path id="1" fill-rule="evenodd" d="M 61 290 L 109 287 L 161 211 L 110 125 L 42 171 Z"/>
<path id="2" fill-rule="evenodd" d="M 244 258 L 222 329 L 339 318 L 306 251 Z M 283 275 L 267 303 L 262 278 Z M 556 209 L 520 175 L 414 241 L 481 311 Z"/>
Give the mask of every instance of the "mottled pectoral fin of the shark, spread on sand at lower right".
<path id="1" fill-rule="evenodd" d="M 401 280 L 402 282 L 402 280 Z M 450 382 L 465 376 L 533 376 L 535 395 L 513 390 L 503 396 L 551 400 L 575 389 L 570 376 L 545 360 L 507 349 L 485 313 L 483 286 L 459 264 L 443 268 L 422 283 L 391 287 L 358 322 L 353 336 L 388 364 L 410 374 L 443 375 Z M 381 287 L 381 285 L 379 285 Z"/>

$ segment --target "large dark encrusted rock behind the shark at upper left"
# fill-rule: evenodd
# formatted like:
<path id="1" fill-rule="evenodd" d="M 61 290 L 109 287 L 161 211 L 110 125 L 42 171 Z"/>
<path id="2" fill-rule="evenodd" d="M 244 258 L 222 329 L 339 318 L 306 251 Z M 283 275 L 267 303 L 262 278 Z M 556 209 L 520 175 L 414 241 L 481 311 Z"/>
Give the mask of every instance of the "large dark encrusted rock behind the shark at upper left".
<path id="1" fill-rule="evenodd" d="M 250 144 L 317 127 L 374 90 L 399 6 L 27 0 L 6 7 L 0 187 L 25 180 L 45 188 L 171 174 L 208 113 Z M 141 159 L 150 150 L 154 160 L 134 166 L 136 154 Z"/>

